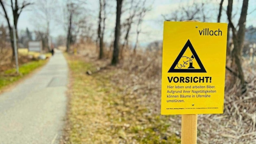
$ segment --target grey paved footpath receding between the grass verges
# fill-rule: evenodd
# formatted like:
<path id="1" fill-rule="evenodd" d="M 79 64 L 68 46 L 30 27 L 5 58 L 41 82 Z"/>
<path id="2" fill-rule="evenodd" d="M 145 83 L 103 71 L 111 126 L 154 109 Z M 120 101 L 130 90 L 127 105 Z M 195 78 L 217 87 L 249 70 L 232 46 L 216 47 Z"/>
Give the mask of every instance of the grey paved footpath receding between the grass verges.
<path id="1" fill-rule="evenodd" d="M 60 51 L 0 95 L 0 144 L 58 144 L 64 126 L 68 67 Z"/>

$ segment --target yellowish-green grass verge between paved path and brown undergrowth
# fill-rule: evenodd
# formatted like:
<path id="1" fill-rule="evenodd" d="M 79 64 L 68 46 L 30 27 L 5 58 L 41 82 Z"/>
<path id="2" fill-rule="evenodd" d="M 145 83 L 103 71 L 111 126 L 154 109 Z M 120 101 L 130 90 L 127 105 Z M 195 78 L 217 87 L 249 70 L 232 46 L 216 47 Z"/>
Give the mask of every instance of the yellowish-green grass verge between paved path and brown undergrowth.
<path id="1" fill-rule="evenodd" d="M 124 95 L 115 84 L 117 68 L 97 71 L 93 62 L 66 55 L 70 74 L 69 110 L 63 143 L 177 144 L 167 116 L 151 114 L 143 99 Z M 87 70 L 92 75 L 86 74 Z"/>

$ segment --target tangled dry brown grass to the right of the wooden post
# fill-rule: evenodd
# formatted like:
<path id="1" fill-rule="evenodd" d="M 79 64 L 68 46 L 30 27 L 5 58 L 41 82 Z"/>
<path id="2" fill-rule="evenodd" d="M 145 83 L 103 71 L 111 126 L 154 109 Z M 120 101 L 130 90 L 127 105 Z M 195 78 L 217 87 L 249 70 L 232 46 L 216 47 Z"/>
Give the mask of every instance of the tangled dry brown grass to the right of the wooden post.
<path id="1" fill-rule="evenodd" d="M 224 113 L 200 115 L 198 139 L 204 144 L 242 143 L 256 144 L 256 72 L 255 66 L 243 62 L 245 78 L 249 82 L 247 93 L 241 95 L 239 80 L 225 92 Z M 231 74 L 226 71 L 226 85 Z"/>

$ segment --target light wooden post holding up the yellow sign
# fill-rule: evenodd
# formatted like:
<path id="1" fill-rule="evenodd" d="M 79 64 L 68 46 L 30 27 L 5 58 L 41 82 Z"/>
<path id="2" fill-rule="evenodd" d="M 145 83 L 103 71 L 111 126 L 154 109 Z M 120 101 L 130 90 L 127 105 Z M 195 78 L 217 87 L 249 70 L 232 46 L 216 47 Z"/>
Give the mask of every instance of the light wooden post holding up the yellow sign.
<path id="1" fill-rule="evenodd" d="M 181 144 L 196 144 L 197 114 L 182 114 L 181 116 Z"/>

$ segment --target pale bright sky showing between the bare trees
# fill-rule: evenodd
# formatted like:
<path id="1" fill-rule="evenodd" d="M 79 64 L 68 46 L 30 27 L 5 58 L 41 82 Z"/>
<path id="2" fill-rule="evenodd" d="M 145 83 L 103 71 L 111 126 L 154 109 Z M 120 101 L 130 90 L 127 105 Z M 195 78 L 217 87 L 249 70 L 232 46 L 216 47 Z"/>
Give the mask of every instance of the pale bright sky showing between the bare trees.
<path id="1" fill-rule="evenodd" d="M 31 0 L 33 1 L 33 0 Z M 34 0 L 35 1 L 35 0 Z M 56 7 L 56 13 L 63 13 L 63 10 L 60 8 L 61 6 L 65 6 L 63 0 L 55 0 L 59 3 L 59 8 Z M 220 0 L 147 0 L 145 6 L 150 8 L 145 14 L 143 19 L 143 23 L 141 25 L 141 34 L 139 35 L 139 41 L 143 44 L 148 44 L 154 40 L 163 40 L 163 21 L 165 20 L 163 15 L 168 18 L 171 17 L 171 14 L 175 13 L 178 8 L 193 8 L 191 6 L 193 1 L 205 3 L 205 11 L 209 15 L 209 19 L 207 22 L 216 22 L 218 15 L 218 8 Z M 224 0 L 223 9 L 225 10 L 227 7 L 227 0 Z M 111 41 L 110 37 L 113 37 L 113 30 L 115 27 L 115 0 L 107 0 L 109 6 L 108 12 L 110 13 L 106 19 L 106 40 Z M 91 21 L 93 28 L 97 29 L 97 16 L 98 16 L 98 0 L 87 0 L 87 8 L 88 12 L 85 12 L 85 15 L 89 15 L 87 21 Z M 233 13 L 237 13 L 234 17 L 234 21 L 238 21 L 239 19 L 239 9 L 241 9 L 242 0 L 234 0 Z M 248 7 L 248 15 L 247 15 L 247 23 L 246 26 L 253 25 L 256 27 L 256 0 L 249 0 Z M 2 9 L 0 9 L 2 12 Z M 122 15 L 123 19 L 125 19 L 126 15 Z M 26 8 L 22 11 L 20 15 L 20 19 L 18 21 L 18 30 L 25 30 L 29 28 L 30 30 L 37 30 L 45 25 L 40 25 L 40 21 L 37 20 L 35 22 L 33 19 L 37 18 L 37 14 L 35 13 L 35 6 Z M 227 23 L 226 20 L 226 12 L 222 12 L 221 22 Z M 4 17 L 1 17 L 0 23 L 4 23 Z M 42 24 L 42 23 L 41 23 Z M 63 25 L 60 23 L 52 22 L 51 26 L 51 36 L 56 37 L 59 35 L 65 35 L 65 31 Z M 130 40 L 135 42 L 135 30 L 137 26 L 133 25 L 131 32 Z"/>

